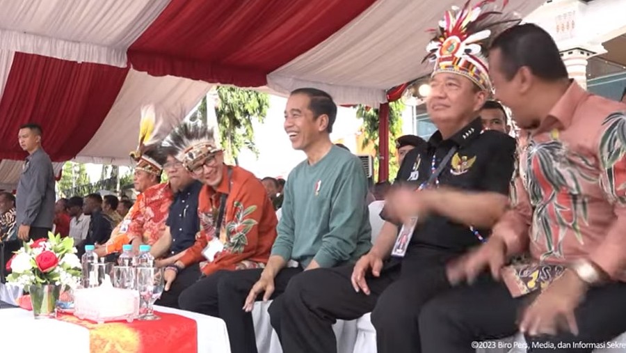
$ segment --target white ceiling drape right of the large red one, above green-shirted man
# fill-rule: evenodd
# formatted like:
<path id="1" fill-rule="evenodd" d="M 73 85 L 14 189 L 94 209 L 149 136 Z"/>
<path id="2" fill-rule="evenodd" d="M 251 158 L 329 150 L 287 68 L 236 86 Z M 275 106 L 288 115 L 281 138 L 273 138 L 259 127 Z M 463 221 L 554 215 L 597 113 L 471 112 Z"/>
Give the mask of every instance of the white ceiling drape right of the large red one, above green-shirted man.
<path id="1" fill-rule="evenodd" d="M 506 12 L 527 15 L 544 0 L 512 0 Z M 288 93 L 311 86 L 339 104 L 386 102 L 384 91 L 432 71 L 421 64 L 430 36 L 444 10 L 458 0 L 378 0 L 344 28 L 268 74 L 268 86 Z"/>

